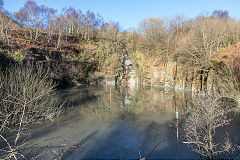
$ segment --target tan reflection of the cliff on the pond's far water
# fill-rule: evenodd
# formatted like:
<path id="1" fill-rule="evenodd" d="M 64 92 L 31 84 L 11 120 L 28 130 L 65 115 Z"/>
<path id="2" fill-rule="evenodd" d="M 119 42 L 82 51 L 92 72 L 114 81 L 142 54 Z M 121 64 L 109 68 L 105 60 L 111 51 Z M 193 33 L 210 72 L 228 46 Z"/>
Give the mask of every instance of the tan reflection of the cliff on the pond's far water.
<path id="1" fill-rule="evenodd" d="M 65 90 L 63 94 L 75 106 L 70 109 L 73 115 L 80 114 L 81 118 L 93 121 L 116 116 L 129 120 L 143 116 L 152 119 L 153 114 L 175 115 L 176 110 L 184 113 L 187 106 L 191 105 L 190 95 L 159 88 L 75 88 Z M 157 117 L 155 120 L 159 119 L 162 118 Z"/>

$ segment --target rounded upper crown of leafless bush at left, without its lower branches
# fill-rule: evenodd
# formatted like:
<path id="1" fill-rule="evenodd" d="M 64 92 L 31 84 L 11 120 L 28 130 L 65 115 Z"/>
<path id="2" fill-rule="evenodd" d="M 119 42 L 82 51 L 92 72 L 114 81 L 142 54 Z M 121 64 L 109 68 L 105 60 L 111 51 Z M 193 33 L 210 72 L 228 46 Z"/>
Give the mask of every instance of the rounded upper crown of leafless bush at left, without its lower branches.
<path id="1" fill-rule="evenodd" d="M 58 116 L 55 85 L 43 65 L 17 64 L 0 74 L 0 133 L 5 126 L 29 125 Z"/>

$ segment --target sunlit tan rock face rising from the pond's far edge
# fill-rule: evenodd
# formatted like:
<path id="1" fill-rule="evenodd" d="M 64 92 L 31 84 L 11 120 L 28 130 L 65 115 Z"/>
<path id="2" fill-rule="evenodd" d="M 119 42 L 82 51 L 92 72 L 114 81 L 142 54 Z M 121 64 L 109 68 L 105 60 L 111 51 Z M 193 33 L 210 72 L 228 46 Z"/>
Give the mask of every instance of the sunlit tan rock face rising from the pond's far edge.
<path id="1" fill-rule="evenodd" d="M 128 62 L 128 64 L 132 64 Z M 141 85 L 162 86 L 188 91 L 208 91 L 215 90 L 213 71 L 201 72 L 197 69 L 184 70 L 176 62 L 158 63 L 145 61 L 144 70 L 139 64 L 136 67 L 126 67 L 125 79 L 129 87 Z M 140 69 L 139 69 L 140 68 Z"/>

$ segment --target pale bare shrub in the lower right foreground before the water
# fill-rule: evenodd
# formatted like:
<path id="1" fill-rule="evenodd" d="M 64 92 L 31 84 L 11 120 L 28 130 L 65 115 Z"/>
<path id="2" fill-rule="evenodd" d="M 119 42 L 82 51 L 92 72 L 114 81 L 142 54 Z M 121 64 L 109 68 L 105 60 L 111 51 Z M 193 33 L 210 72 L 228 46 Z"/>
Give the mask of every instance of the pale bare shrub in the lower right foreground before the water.
<path id="1" fill-rule="evenodd" d="M 197 98 L 195 108 L 189 111 L 185 124 L 186 143 L 193 151 L 207 159 L 233 158 L 234 148 L 228 138 L 216 142 L 216 129 L 228 125 L 231 109 L 222 108 L 219 98 Z M 232 146 L 232 147 L 229 147 Z M 227 156 L 227 157 L 225 157 Z"/>

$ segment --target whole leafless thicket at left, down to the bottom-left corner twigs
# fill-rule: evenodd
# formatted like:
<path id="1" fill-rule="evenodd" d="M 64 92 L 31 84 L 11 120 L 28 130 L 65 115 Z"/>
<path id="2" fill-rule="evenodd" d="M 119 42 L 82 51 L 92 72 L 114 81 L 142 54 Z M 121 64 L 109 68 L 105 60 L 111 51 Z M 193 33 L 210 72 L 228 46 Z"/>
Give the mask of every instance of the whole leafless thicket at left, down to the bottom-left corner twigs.
<path id="1" fill-rule="evenodd" d="M 61 111 L 59 96 L 42 65 L 28 62 L 0 72 L 0 153 L 6 159 L 23 156 L 18 150 L 28 127 L 53 121 Z"/>

